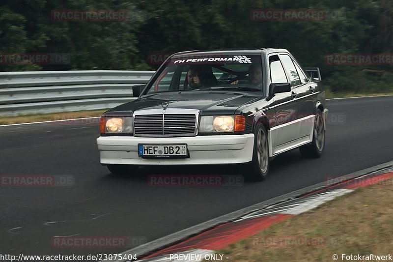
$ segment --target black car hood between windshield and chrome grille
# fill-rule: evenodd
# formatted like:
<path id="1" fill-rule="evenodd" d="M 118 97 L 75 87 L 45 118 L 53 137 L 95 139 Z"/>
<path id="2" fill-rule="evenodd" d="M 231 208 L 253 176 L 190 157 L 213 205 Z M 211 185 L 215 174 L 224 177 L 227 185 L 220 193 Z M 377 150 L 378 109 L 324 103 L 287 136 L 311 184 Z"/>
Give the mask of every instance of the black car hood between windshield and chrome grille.
<path id="1" fill-rule="evenodd" d="M 262 95 L 244 92 L 187 91 L 182 93 L 158 93 L 117 106 L 106 114 L 161 109 L 163 108 L 161 104 L 165 101 L 168 102 L 167 108 L 197 109 L 201 111 L 201 114 L 235 114 L 239 107 L 261 98 Z"/>

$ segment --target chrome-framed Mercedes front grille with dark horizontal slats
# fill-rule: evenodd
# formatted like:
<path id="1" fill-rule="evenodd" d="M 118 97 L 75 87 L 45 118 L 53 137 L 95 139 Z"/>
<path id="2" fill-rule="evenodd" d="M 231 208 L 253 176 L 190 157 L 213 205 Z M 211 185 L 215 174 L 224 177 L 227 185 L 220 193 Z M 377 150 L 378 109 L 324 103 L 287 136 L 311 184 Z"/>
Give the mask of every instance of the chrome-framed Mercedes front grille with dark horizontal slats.
<path id="1" fill-rule="evenodd" d="M 195 114 L 155 114 L 134 116 L 135 136 L 194 136 Z"/>

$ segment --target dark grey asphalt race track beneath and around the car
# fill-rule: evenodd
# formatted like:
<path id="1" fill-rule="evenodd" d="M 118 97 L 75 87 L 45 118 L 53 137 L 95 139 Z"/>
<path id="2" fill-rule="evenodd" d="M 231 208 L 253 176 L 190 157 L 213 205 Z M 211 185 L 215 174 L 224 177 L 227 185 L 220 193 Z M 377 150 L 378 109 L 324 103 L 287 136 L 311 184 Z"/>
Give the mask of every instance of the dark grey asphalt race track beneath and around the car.
<path id="1" fill-rule="evenodd" d="M 115 254 L 129 248 L 59 248 L 53 239 L 133 236 L 135 243 L 151 241 L 328 177 L 392 160 L 393 96 L 329 100 L 327 107 L 326 147 L 320 159 L 304 159 L 293 150 L 271 163 L 265 181 L 232 187 L 156 187 L 148 184 L 147 176 L 238 175 L 233 167 L 144 167 L 132 176 L 111 175 L 99 163 L 97 121 L 0 127 L 1 176 L 75 179 L 72 186 L 2 185 L 0 253 Z"/>

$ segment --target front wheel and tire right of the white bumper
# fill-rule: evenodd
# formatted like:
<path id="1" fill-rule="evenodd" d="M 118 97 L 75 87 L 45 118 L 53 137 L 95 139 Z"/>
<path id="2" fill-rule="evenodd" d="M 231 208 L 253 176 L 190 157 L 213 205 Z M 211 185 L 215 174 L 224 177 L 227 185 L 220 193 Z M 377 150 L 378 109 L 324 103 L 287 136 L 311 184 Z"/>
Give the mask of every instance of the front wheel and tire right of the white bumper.
<path id="1" fill-rule="evenodd" d="M 244 175 L 253 181 L 262 181 L 269 172 L 269 141 L 267 131 L 263 124 L 259 123 L 254 131 L 253 161 L 246 164 Z"/>

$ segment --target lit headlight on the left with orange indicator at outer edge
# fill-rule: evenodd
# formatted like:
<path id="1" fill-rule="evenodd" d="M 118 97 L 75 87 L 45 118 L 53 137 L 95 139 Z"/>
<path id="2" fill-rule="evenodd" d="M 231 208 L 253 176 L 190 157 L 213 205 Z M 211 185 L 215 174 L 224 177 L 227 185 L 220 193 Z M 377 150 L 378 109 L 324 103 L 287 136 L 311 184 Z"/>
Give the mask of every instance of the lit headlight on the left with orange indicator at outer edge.
<path id="1" fill-rule="evenodd" d="M 132 117 L 101 117 L 102 134 L 132 133 Z"/>

